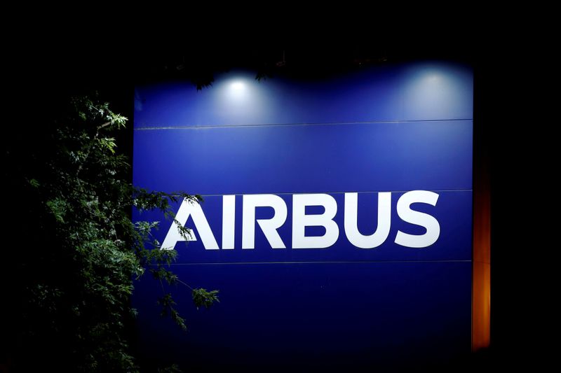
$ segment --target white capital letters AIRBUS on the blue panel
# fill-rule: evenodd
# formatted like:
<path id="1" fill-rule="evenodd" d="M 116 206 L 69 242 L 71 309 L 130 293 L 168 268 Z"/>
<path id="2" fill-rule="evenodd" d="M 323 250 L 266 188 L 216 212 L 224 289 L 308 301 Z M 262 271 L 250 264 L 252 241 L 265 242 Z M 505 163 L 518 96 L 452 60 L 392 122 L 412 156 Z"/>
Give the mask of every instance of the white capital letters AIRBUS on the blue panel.
<path id="1" fill-rule="evenodd" d="M 377 248 L 388 239 L 391 227 L 391 192 L 378 193 L 377 228 L 372 234 L 362 234 L 358 230 L 358 193 L 344 193 L 344 234 L 346 238 L 361 249 Z M 426 229 L 424 234 L 407 234 L 398 230 L 393 241 L 409 248 L 425 248 L 434 244 L 440 236 L 440 224 L 434 216 L 415 211 L 412 204 L 429 204 L 436 206 L 438 194 L 427 190 L 412 190 L 401 195 L 397 202 L 398 217 L 413 225 Z M 323 206 L 323 213 L 306 214 L 306 206 Z M 274 211 L 269 219 L 255 218 L 255 209 L 269 207 Z M 337 213 L 337 202 L 328 194 L 295 194 L 292 195 L 292 239 L 293 249 L 328 248 L 339 239 L 340 229 L 333 220 Z M 185 225 L 191 216 L 194 227 L 206 250 L 233 250 L 236 227 L 236 195 L 222 196 L 222 246 L 218 245 L 201 205 L 184 200 L 177 215 L 177 222 Z M 251 250 L 255 248 L 256 224 L 262 230 L 271 248 L 286 248 L 285 241 L 278 234 L 278 228 L 287 220 L 288 209 L 285 201 L 278 195 L 243 195 L 242 198 L 242 232 L 241 248 Z M 325 234 L 321 236 L 306 236 L 306 227 L 323 227 Z M 196 241 L 193 230 L 189 230 L 189 237 L 183 237 L 174 222 L 161 248 L 171 250 L 178 241 Z M 288 240 L 287 240 L 288 241 Z"/>

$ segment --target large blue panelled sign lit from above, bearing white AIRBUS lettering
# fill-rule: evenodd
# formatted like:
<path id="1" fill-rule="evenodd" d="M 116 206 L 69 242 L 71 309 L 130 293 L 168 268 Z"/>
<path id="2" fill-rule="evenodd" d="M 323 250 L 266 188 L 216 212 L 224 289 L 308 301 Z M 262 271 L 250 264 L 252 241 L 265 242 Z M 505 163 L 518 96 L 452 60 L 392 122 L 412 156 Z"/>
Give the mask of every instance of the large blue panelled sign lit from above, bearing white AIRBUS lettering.
<path id="1" fill-rule="evenodd" d="M 220 290 L 196 311 L 177 289 L 182 334 L 142 279 L 141 348 L 186 369 L 418 366 L 470 351 L 472 95 L 471 70 L 440 63 L 137 87 L 134 184 L 204 202 L 174 206 L 188 237 L 158 213 L 134 218 L 161 221 L 183 281 Z"/>

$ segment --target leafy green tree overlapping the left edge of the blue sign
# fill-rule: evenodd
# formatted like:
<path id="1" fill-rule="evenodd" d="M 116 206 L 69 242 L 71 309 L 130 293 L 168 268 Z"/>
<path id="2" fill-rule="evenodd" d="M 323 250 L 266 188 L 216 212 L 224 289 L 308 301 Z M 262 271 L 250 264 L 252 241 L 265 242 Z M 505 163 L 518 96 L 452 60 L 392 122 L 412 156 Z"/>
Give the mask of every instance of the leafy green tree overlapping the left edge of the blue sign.
<path id="1" fill-rule="evenodd" d="M 130 185 L 128 159 L 116 151 L 116 133 L 127 119 L 96 100 L 74 99 L 44 139 L 49 146 L 41 154 L 29 150 L 34 167 L 17 176 L 31 201 L 32 234 L 41 239 L 32 238 L 27 255 L 18 258 L 27 277 L 18 295 L 16 334 L 20 349 L 43 351 L 44 360 L 16 357 L 20 370 L 56 364 L 55 370 L 77 372 L 137 371 L 127 338 L 136 312 L 130 307 L 133 279 L 149 272 L 159 281 L 184 284 L 170 271 L 177 252 L 159 250 L 151 234 L 158 222 L 133 223 L 130 211 L 158 209 L 175 220 L 170 203 L 202 199 Z M 197 307 L 218 300 L 217 290 L 191 290 Z M 186 329 L 170 293 L 158 303 L 163 315 Z"/>

